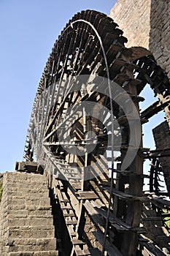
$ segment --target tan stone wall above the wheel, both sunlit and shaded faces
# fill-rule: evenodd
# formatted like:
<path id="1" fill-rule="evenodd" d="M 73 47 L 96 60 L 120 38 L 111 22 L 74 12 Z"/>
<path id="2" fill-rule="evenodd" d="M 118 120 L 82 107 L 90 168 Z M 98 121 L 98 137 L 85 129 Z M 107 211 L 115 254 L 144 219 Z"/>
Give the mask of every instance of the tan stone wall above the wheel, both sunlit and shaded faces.
<path id="1" fill-rule="evenodd" d="M 117 0 L 109 16 L 128 38 L 126 47 L 150 50 L 170 78 L 170 1 Z"/>

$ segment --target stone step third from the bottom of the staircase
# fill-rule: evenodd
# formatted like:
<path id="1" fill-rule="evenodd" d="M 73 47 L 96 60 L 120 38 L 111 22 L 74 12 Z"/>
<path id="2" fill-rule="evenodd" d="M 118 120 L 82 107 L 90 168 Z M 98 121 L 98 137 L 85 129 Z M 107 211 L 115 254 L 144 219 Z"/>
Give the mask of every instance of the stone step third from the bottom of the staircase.
<path id="1" fill-rule="evenodd" d="M 47 226 L 20 226 L 12 227 L 9 226 L 7 231 L 4 233 L 4 238 L 54 238 L 55 231 L 53 225 Z"/>

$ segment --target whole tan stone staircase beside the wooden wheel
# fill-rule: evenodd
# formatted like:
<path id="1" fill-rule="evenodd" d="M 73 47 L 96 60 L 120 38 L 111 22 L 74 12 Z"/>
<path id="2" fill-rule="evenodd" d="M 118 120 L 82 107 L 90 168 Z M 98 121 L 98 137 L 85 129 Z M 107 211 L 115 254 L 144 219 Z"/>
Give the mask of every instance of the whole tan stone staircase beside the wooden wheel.
<path id="1" fill-rule="evenodd" d="M 0 255 L 58 255 L 45 176 L 5 173 L 3 187 Z"/>

